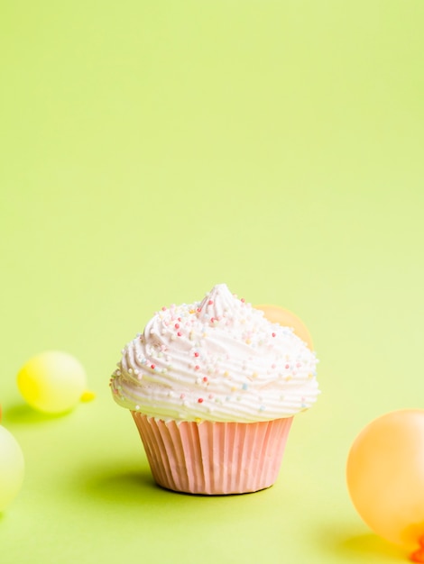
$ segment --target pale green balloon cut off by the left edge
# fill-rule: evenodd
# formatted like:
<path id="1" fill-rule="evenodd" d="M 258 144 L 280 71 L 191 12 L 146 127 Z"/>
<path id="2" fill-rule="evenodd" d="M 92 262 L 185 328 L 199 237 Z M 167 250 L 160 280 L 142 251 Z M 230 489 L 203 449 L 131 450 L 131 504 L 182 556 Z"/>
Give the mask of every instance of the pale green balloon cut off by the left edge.
<path id="1" fill-rule="evenodd" d="M 0 512 L 14 500 L 23 483 L 23 452 L 11 432 L 0 425 Z"/>

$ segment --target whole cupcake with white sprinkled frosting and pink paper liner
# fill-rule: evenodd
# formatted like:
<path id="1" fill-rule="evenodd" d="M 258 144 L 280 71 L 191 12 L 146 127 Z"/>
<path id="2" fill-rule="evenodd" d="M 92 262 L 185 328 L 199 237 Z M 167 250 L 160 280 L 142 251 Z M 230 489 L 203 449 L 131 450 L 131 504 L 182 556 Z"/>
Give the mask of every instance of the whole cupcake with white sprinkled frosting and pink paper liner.
<path id="1" fill-rule="evenodd" d="M 110 387 L 161 486 L 224 495 L 272 486 L 293 416 L 317 399 L 315 353 L 225 284 L 162 307 L 126 344 Z"/>

